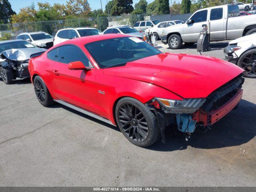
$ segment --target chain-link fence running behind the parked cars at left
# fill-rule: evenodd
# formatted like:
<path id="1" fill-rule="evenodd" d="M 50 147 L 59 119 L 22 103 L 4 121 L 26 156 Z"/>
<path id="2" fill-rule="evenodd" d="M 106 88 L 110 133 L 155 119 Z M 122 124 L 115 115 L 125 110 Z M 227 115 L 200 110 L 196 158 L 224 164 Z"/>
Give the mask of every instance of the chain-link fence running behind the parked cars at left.
<path id="1" fill-rule="evenodd" d="M 55 21 L 27 22 L 16 24 L 0 25 L 0 37 L 4 33 L 11 34 L 11 38 L 15 38 L 22 32 L 44 31 L 48 34 L 55 35 L 62 28 L 76 27 L 92 27 L 100 31 L 104 31 L 108 26 L 129 25 L 134 26 L 135 22 L 144 20 L 145 15 L 122 15 L 114 17 L 97 17 L 97 18 L 79 18 Z"/>

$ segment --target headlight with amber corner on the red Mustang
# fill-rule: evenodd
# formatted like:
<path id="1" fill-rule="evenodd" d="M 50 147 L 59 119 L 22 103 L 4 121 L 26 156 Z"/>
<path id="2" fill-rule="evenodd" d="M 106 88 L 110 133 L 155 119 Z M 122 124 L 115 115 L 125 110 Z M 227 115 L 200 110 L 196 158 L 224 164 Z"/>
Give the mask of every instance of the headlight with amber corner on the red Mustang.
<path id="1" fill-rule="evenodd" d="M 172 100 L 155 98 L 170 113 L 194 113 L 206 101 L 205 98 Z"/>

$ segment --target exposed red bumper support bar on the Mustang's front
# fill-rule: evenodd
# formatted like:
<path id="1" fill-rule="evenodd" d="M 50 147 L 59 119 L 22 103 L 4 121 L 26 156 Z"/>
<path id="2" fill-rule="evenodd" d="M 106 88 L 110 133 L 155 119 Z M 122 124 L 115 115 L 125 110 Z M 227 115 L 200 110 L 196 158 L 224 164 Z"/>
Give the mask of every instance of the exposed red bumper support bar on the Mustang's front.
<path id="1" fill-rule="evenodd" d="M 220 108 L 206 113 L 202 109 L 197 110 L 193 113 L 193 120 L 197 122 L 203 122 L 204 126 L 212 125 L 226 114 L 228 114 L 241 100 L 243 90 L 239 89 L 237 93 Z"/>

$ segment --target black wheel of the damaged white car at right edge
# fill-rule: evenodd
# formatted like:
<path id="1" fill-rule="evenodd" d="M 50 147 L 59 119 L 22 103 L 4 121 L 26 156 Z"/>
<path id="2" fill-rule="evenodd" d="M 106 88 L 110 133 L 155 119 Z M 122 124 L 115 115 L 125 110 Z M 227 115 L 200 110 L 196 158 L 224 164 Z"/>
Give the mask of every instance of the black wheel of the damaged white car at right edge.
<path id="1" fill-rule="evenodd" d="M 256 48 L 244 52 L 237 65 L 244 70 L 244 77 L 256 78 Z"/>

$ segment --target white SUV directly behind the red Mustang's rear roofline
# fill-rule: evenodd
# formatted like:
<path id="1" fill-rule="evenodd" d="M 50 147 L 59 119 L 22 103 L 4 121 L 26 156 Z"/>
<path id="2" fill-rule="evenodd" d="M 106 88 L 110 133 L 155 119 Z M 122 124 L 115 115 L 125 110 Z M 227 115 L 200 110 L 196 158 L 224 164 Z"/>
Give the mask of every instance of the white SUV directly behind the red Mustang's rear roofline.
<path id="1" fill-rule="evenodd" d="M 64 42 L 69 39 L 90 36 L 90 35 L 100 35 L 102 32 L 96 28 L 80 27 L 80 28 L 65 28 L 58 30 L 56 33 L 53 43 L 54 45 Z"/>

